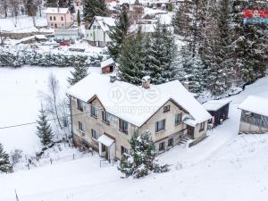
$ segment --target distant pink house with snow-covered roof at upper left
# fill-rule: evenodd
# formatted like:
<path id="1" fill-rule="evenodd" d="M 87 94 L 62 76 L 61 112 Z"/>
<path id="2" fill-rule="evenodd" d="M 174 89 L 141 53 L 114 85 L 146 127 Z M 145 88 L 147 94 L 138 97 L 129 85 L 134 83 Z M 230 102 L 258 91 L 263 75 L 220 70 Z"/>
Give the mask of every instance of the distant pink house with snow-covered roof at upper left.
<path id="1" fill-rule="evenodd" d="M 74 22 L 73 15 L 69 8 L 46 8 L 47 26 L 53 29 L 68 29 Z"/>

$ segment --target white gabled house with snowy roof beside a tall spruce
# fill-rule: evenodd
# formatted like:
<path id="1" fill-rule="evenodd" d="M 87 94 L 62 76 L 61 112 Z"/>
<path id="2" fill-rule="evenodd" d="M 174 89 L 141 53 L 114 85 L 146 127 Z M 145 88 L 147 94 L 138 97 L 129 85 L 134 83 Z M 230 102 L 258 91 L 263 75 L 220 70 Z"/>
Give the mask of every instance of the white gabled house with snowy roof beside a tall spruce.
<path id="1" fill-rule="evenodd" d="M 86 29 L 86 39 L 92 46 L 106 46 L 111 42 L 109 31 L 113 26 L 115 20 L 112 17 L 96 16 Z"/>

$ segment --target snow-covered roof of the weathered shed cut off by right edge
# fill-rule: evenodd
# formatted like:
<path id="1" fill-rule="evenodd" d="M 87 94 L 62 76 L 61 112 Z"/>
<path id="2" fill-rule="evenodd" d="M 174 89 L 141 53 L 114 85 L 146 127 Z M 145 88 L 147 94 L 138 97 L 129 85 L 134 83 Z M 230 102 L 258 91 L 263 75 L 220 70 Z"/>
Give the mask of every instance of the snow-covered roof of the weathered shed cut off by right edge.
<path id="1" fill-rule="evenodd" d="M 268 116 L 268 99 L 259 96 L 247 96 L 239 105 L 239 109 Z"/>

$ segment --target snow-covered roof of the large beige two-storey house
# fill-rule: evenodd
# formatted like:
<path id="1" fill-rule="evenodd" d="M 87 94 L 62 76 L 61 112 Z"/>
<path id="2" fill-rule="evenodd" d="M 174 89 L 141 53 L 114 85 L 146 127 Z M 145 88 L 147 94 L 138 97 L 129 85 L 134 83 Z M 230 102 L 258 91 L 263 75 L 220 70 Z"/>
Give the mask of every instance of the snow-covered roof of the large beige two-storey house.
<path id="1" fill-rule="evenodd" d="M 106 112 L 140 127 L 167 101 L 173 100 L 184 108 L 196 123 L 209 120 L 211 115 L 197 102 L 179 80 L 151 85 L 134 86 L 91 72 L 86 78 L 68 89 L 67 94 L 84 102 L 97 96 Z"/>

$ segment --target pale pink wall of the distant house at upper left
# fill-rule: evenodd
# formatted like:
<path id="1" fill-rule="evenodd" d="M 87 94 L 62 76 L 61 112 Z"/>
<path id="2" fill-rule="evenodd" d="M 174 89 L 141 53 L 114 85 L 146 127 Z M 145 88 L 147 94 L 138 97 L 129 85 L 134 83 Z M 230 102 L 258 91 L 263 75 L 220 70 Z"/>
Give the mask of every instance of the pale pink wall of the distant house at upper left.
<path id="1" fill-rule="evenodd" d="M 52 20 L 50 20 L 50 17 L 52 17 Z M 55 20 L 54 20 L 55 17 Z M 62 21 L 63 17 L 63 21 Z M 71 25 L 74 22 L 73 16 L 70 11 L 66 14 L 61 14 L 61 13 L 46 13 L 46 21 L 47 21 L 47 26 L 49 28 L 55 28 L 55 24 L 57 29 L 67 29 L 71 27 Z"/>

